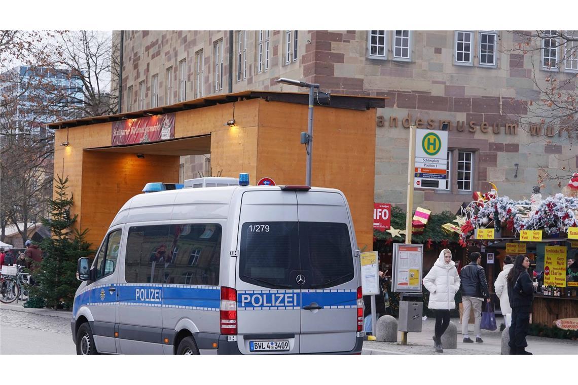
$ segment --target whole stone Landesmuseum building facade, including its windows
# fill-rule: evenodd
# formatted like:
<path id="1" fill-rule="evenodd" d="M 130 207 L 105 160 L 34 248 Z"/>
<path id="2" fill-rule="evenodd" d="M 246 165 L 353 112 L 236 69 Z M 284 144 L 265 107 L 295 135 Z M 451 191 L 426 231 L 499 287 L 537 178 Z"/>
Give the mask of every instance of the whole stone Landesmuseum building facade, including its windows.
<path id="1" fill-rule="evenodd" d="M 114 35 L 118 42 L 120 32 Z M 554 51 L 524 47 L 524 54 L 518 33 L 124 31 L 123 37 L 122 112 L 248 89 L 305 92 L 275 83 L 279 77 L 319 83 L 332 94 L 386 96 L 376 121 L 376 202 L 405 205 L 410 125 L 449 124 L 447 188 L 417 188 L 414 195 L 414 204 L 434 212 L 456 211 L 473 191 L 488 190 L 488 182 L 500 195 L 529 197 L 539 175 L 578 168 L 568 133 L 530 128 L 524 120 L 540 99 L 533 77 L 546 84 L 540 79 L 553 69 L 544 66 L 544 55 Z M 560 58 L 565 47 L 555 49 Z M 576 72 L 573 62 L 554 70 L 566 79 Z M 204 158 L 181 163 L 184 178 L 207 167 Z M 550 181 L 542 192 L 559 191 L 558 181 Z"/>

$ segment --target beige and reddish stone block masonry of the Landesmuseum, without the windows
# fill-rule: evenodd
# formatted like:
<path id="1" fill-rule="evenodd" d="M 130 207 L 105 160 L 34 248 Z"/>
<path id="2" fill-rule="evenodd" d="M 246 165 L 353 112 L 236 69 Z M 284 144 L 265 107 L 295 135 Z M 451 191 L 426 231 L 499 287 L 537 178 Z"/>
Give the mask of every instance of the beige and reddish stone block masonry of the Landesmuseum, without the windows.
<path id="1" fill-rule="evenodd" d="M 376 135 L 375 201 L 405 205 L 407 175 L 407 129 L 410 124 L 439 129 L 450 123 L 449 148 L 473 152 L 472 190 L 486 190 L 494 182 L 502 195 L 513 199 L 528 197 L 536 185 L 539 169 L 562 169 L 576 163 L 564 137 L 533 136 L 529 129 L 514 126 L 528 113 L 529 100 L 539 97 L 533 84 L 532 68 L 539 67 L 539 55 L 512 52 L 520 38 L 498 31 L 497 65 L 479 65 L 479 35 L 473 33 L 473 65 L 454 63 L 454 31 L 412 31 L 411 61 L 392 60 L 392 31 L 387 32 L 387 59 L 369 58 L 368 31 L 298 31 L 297 60 L 285 63 L 286 31 L 269 35 L 269 68 L 258 72 L 258 31 L 247 33 L 247 76 L 236 80 L 237 33 L 232 42 L 233 68 L 229 69 L 229 31 L 125 31 L 123 91 L 133 86 L 132 105 L 138 106 L 138 84 L 146 81 L 145 106 L 150 106 L 150 77 L 159 74 L 159 105 L 165 101 L 165 70 L 173 68 L 173 100 L 176 102 L 178 63 L 187 59 L 186 99 L 193 99 L 197 87 L 204 96 L 214 92 L 213 44 L 223 39 L 224 85 L 217 94 L 247 89 L 305 92 L 275 83 L 279 77 L 320 83 L 332 94 L 386 96 L 386 107 L 378 109 Z M 115 33 L 118 36 L 118 32 Z M 195 53 L 204 52 L 202 84 L 195 81 Z M 229 82 L 229 72 L 234 76 Z M 127 107 L 123 97 L 123 112 Z M 406 118 L 406 119 L 404 119 Z M 362 138 L 360 138 L 362 140 Z M 204 158 L 203 158 L 204 159 Z M 195 167 L 204 162 L 187 160 L 185 178 L 196 177 Z M 197 166 L 195 166 L 195 164 Z M 518 166 L 514 166 L 518 165 Z M 455 171 L 457 160 L 451 167 Z M 557 182 L 543 190 L 558 192 Z M 417 189 L 414 203 L 456 211 L 471 192 L 460 192 L 455 175 L 448 191 Z"/>

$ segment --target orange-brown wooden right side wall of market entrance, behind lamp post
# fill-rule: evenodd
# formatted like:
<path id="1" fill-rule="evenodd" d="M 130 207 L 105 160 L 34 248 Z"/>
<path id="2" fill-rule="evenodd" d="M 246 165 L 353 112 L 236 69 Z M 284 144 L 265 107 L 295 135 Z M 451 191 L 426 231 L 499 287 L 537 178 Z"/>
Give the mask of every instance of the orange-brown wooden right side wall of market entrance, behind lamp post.
<path id="1" fill-rule="evenodd" d="M 306 105 L 260 100 L 257 180 L 305 184 Z M 315 107 L 312 185 L 343 191 L 349 202 L 358 247 L 373 249 L 376 110 Z"/>

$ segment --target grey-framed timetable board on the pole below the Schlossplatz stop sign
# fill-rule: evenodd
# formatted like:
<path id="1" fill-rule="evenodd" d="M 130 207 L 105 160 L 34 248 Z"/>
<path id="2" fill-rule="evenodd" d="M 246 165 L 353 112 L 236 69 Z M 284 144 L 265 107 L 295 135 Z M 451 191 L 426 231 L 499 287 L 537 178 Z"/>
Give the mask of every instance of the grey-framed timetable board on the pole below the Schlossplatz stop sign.
<path id="1" fill-rule="evenodd" d="M 423 261 L 424 245 L 394 244 L 392 290 L 421 293 Z"/>

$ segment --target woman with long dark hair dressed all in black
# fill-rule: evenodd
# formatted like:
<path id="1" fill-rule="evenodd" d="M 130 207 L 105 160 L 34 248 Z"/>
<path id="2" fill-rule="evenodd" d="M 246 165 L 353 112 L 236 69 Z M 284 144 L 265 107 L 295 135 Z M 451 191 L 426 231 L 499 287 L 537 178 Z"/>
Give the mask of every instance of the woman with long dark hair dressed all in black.
<path id="1" fill-rule="evenodd" d="M 534 299 L 532 278 L 528 274 L 530 261 L 525 255 L 518 255 L 514 267 L 507 276 L 507 293 L 512 307 L 510 325 L 510 354 L 532 354 L 525 350 L 526 336 L 530 326 L 530 311 Z"/>

